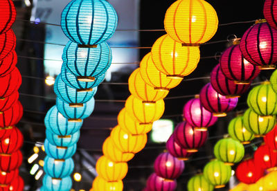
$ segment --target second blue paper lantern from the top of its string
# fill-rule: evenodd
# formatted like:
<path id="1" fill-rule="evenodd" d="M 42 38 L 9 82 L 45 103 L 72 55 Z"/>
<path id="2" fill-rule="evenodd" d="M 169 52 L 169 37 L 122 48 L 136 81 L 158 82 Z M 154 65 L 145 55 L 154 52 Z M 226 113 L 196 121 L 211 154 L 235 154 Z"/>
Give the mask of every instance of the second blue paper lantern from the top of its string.
<path id="1" fill-rule="evenodd" d="M 103 75 L 111 65 L 111 57 L 111 48 L 106 42 L 98 44 L 97 48 L 81 48 L 69 41 L 62 54 L 63 64 L 83 82 L 93 82 Z"/>

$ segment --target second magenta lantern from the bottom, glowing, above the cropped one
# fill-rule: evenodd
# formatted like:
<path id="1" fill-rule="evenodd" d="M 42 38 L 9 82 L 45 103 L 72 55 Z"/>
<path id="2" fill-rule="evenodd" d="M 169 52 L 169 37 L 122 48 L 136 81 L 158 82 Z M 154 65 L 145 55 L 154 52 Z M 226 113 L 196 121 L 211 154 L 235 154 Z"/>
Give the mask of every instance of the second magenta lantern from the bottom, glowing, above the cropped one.
<path id="1" fill-rule="evenodd" d="M 154 171 L 166 180 L 177 179 L 185 169 L 184 161 L 172 156 L 169 152 L 159 154 L 154 161 Z"/>

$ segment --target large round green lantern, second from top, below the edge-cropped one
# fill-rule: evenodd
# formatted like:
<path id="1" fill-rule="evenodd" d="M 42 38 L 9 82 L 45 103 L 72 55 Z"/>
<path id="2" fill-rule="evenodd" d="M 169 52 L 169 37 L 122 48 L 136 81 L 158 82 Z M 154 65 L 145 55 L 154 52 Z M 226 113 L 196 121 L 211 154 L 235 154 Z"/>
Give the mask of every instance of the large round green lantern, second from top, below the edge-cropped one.
<path id="1" fill-rule="evenodd" d="M 270 82 L 263 82 L 249 92 L 248 106 L 260 116 L 273 116 L 277 114 L 277 94 Z"/>

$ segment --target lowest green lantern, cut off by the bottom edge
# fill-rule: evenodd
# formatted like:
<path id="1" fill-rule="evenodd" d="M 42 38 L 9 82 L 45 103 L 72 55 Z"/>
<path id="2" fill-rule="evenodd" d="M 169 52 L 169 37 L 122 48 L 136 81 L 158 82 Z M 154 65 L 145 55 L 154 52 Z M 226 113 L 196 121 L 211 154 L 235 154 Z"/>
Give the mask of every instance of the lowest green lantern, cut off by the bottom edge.
<path id="1" fill-rule="evenodd" d="M 213 185 L 209 183 L 203 174 L 197 174 L 188 181 L 188 191 L 213 191 Z"/>

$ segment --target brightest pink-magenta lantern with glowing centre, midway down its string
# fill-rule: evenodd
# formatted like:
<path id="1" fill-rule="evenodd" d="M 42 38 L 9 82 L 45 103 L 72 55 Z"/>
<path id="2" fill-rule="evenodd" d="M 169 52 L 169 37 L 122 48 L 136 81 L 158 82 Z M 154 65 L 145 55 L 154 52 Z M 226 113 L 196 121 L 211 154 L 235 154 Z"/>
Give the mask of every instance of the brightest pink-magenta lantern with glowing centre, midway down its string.
<path id="1" fill-rule="evenodd" d="M 217 117 L 202 106 L 199 98 L 193 98 L 186 102 L 183 116 L 190 125 L 199 131 L 206 131 L 207 127 L 211 127 L 217 122 Z"/>

